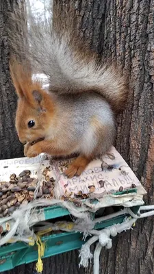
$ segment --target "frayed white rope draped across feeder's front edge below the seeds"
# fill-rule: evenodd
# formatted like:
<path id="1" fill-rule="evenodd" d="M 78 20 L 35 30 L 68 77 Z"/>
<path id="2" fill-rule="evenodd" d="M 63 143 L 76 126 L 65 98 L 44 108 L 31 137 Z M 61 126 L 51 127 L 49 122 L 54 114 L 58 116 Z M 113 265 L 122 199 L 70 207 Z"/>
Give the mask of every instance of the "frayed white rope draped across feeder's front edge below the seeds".
<path id="1" fill-rule="evenodd" d="M 2 218 L 0 220 L 0 225 L 5 225 L 6 221 L 11 223 L 10 231 L 5 234 L 3 238 L 0 239 L 0 246 L 10 242 L 12 238 L 14 239 L 14 242 L 17 242 L 18 240 L 28 242 L 28 239 L 30 237 L 35 237 L 34 230 L 31 227 L 35 223 L 44 221 L 44 210 L 40 209 L 39 212 L 36 209 L 55 205 L 60 205 L 66 208 L 70 212 L 70 214 L 73 214 L 73 216 L 78 219 L 78 224 L 80 222 L 84 222 L 82 225 L 83 230 L 81 229 L 81 232 L 84 232 L 84 227 L 86 232 L 88 231 L 88 228 L 92 227 L 92 219 L 90 219 L 90 213 L 79 212 L 79 210 L 77 210 L 77 208 L 75 208 L 72 203 L 55 199 L 38 199 L 31 201 L 26 206 L 21 205 L 20 208 L 12 213 L 12 216 L 8 218 Z"/>

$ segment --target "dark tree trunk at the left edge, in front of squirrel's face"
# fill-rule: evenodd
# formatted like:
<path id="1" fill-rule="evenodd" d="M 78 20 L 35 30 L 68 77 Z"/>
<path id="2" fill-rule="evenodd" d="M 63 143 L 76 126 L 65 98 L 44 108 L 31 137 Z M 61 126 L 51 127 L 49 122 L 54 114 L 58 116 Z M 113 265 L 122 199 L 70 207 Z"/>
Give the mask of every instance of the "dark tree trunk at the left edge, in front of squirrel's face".
<path id="1" fill-rule="evenodd" d="M 0 159 L 23 155 L 23 145 L 18 140 L 14 126 L 17 98 L 10 78 L 7 32 L 8 27 L 12 25 L 10 12 L 20 13 L 23 3 L 24 0 L 0 1 Z M 13 29 L 12 27 L 12 31 Z"/>

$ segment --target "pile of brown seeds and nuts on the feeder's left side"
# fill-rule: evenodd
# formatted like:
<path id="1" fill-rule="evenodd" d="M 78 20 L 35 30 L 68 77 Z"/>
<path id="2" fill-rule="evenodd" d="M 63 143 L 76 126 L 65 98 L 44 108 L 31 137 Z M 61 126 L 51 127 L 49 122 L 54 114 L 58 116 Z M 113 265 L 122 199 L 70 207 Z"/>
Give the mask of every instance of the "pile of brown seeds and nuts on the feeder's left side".
<path id="1" fill-rule="evenodd" d="M 48 173 L 49 168 L 45 168 L 43 175 L 45 180 L 42 182 L 42 188 L 37 193 L 37 198 L 52 199 L 55 180 L 50 178 Z M 10 175 L 9 182 L 0 182 L 0 218 L 8 216 L 21 204 L 27 205 L 29 201 L 34 199 L 34 191 L 38 184 L 38 179 L 31 177 L 31 172 L 25 170 L 18 176 Z"/>

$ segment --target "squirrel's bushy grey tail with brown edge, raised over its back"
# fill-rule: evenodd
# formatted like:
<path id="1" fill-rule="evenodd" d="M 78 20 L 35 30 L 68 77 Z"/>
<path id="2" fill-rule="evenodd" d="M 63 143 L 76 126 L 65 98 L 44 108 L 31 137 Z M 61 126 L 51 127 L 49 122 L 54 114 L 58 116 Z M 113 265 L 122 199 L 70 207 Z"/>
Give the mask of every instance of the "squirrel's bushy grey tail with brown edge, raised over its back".
<path id="1" fill-rule="evenodd" d="M 30 16 L 29 53 L 32 64 L 49 77 L 51 91 L 58 93 L 98 92 L 121 110 L 127 99 L 127 81 L 115 66 L 100 64 L 77 34 L 73 10 L 62 9 L 53 0 L 53 18 L 37 23 Z"/>

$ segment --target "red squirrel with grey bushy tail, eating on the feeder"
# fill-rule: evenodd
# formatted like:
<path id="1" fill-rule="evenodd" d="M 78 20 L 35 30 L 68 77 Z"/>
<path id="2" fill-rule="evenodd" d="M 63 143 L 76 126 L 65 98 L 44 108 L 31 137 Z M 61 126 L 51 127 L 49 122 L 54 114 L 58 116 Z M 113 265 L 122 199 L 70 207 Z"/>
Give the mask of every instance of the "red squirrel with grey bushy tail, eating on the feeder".
<path id="1" fill-rule="evenodd" d="M 13 60 L 10 72 L 18 95 L 16 131 L 25 156 L 77 153 L 65 171 L 73 177 L 114 144 L 114 115 L 125 106 L 128 84 L 118 66 L 98 62 L 77 35 L 73 17 L 60 12 L 54 0 L 53 20 L 37 28 L 32 23 L 29 36 L 27 55 L 49 78 L 49 90 L 32 79 L 26 64 Z"/>

